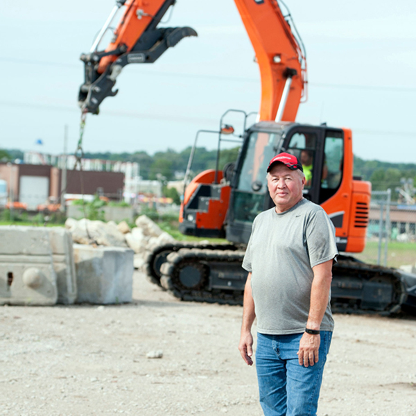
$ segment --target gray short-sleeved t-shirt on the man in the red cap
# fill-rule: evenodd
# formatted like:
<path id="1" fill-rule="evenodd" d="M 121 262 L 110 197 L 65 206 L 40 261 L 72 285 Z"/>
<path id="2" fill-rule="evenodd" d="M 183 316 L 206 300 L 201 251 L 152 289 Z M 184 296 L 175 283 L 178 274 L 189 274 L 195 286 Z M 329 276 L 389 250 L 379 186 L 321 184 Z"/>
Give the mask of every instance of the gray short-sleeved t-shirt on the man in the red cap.
<path id="1" fill-rule="evenodd" d="M 301 333 L 311 301 L 312 268 L 335 259 L 335 228 L 319 205 L 302 199 L 277 214 L 275 208 L 259 214 L 243 260 L 252 272 L 251 285 L 257 331 L 267 334 Z M 333 330 L 331 306 L 320 326 Z"/>

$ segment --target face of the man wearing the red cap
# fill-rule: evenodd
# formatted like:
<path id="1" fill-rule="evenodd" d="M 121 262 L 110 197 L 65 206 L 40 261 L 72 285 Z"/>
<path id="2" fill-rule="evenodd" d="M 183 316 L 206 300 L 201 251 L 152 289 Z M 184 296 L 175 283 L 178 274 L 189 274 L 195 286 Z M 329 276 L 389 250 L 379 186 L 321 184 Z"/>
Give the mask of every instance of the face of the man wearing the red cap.
<path id="1" fill-rule="evenodd" d="M 267 187 L 277 212 L 291 209 L 302 199 L 305 178 L 286 165 L 277 163 L 270 169 Z"/>

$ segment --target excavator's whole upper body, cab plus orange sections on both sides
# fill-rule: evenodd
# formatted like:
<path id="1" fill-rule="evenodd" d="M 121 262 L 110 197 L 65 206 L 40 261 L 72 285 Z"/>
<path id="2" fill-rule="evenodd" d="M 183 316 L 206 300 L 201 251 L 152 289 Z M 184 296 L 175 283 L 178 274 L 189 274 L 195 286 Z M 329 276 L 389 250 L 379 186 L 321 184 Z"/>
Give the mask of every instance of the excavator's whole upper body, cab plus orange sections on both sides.
<path id="1" fill-rule="evenodd" d="M 365 245 L 371 185 L 353 178 L 352 134 L 327 125 L 288 122 L 254 124 L 245 132 L 232 175 L 206 171 L 191 182 L 181 211 L 181 230 L 196 236 L 224 237 L 247 244 L 252 222 L 274 206 L 266 169 L 281 152 L 304 166 L 304 198 L 322 205 L 336 227 L 338 250 L 361 252 Z"/>

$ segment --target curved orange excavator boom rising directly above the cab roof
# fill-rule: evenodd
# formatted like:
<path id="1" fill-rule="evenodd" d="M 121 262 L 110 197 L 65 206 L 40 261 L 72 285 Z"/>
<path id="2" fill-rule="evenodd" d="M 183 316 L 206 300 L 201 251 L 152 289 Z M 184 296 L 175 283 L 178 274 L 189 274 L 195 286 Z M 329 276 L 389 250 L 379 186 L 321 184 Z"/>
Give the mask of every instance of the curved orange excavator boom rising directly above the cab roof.
<path id="1" fill-rule="evenodd" d="M 234 1 L 259 64 L 259 121 L 295 121 L 306 100 L 306 53 L 290 13 L 277 0 Z"/>

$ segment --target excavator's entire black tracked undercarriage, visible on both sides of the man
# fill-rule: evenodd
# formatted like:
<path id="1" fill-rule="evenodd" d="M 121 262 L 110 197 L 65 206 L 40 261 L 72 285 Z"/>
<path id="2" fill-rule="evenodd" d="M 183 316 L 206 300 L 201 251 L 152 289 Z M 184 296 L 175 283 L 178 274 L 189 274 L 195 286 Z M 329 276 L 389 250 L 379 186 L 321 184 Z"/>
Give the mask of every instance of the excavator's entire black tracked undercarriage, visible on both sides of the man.
<path id="1" fill-rule="evenodd" d="M 153 283 L 181 300 L 243 304 L 247 272 L 236 245 L 171 243 L 150 253 Z M 340 256 L 333 266 L 331 308 L 337 313 L 416 315 L 416 275 Z"/>

